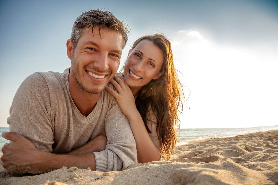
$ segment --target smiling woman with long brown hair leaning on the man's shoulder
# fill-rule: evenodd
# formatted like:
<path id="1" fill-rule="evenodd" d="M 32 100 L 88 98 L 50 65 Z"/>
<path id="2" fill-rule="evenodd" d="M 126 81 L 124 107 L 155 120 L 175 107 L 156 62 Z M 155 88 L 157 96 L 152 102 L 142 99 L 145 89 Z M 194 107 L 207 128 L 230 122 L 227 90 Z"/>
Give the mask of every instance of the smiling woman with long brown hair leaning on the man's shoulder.
<path id="1" fill-rule="evenodd" d="M 176 148 L 177 110 L 183 93 L 170 41 L 162 34 L 136 40 L 122 74 L 111 80 L 118 92 L 106 90 L 130 122 L 138 163 L 169 160 Z"/>

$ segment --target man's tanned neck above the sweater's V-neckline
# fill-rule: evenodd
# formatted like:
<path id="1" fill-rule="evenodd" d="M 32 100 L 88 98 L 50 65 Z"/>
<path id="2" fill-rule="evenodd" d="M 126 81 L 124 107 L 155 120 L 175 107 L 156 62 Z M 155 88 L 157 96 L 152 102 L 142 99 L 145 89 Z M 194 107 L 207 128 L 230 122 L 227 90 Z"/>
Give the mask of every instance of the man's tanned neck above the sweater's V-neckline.
<path id="1" fill-rule="evenodd" d="M 69 72 L 69 93 L 83 116 L 88 116 L 91 113 L 100 97 L 100 93 L 92 94 L 81 89 L 71 71 Z"/>

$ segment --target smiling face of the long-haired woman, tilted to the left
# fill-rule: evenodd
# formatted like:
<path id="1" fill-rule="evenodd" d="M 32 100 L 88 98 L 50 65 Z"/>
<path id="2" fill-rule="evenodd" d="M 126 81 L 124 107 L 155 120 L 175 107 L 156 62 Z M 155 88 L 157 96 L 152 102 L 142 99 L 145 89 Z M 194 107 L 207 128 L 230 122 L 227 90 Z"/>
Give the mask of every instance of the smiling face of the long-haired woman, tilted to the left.
<path id="1" fill-rule="evenodd" d="M 163 64 L 163 52 L 148 40 L 140 41 L 130 50 L 124 67 L 125 83 L 130 87 L 142 87 L 159 78 Z"/>

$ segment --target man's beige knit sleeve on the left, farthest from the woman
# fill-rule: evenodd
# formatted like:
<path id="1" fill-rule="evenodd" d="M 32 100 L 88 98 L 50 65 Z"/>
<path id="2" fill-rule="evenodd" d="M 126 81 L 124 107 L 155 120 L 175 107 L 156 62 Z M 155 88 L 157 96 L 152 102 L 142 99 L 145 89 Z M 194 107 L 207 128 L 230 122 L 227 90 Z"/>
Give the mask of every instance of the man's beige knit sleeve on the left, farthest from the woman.
<path id="1" fill-rule="evenodd" d="M 53 127 L 48 85 L 41 74 L 28 76 L 18 88 L 7 119 L 10 132 L 23 135 L 37 149 L 52 152 Z"/>

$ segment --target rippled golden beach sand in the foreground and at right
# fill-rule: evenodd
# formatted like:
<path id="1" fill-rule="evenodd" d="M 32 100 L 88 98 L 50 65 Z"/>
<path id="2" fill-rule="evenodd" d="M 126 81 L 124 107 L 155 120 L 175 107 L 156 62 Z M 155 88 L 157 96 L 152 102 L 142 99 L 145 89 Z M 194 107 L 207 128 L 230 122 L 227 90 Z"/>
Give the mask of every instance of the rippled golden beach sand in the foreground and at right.
<path id="1" fill-rule="evenodd" d="M 133 164 L 124 171 L 66 167 L 46 174 L 9 177 L 0 184 L 278 184 L 278 130 L 191 142 L 170 161 Z"/>

